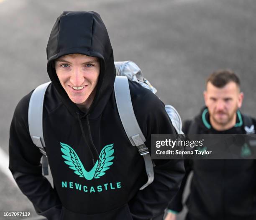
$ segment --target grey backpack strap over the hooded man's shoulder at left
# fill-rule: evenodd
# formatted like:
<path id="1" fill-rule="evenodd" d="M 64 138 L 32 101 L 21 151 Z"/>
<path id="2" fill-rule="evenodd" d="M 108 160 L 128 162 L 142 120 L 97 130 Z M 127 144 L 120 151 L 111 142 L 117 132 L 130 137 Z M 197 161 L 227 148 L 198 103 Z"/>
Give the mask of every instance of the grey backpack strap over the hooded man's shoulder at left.
<path id="1" fill-rule="evenodd" d="M 48 159 L 43 134 L 44 95 L 51 82 L 39 85 L 33 91 L 28 106 L 28 128 L 33 143 L 39 148 L 42 157 L 42 173 L 48 175 Z"/>

